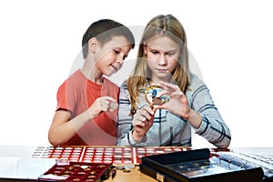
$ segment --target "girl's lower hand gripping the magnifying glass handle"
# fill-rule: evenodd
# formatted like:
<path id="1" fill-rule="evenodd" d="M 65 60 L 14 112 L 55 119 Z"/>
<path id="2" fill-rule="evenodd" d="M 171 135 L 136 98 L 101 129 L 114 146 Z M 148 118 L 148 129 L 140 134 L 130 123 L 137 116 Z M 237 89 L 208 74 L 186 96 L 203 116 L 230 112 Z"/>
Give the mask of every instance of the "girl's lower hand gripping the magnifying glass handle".
<path id="1" fill-rule="evenodd" d="M 155 113 L 156 109 L 152 109 L 149 106 L 143 106 L 136 111 L 132 125 L 134 126 L 133 138 L 137 143 L 141 141 L 150 127 L 153 126 Z"/>

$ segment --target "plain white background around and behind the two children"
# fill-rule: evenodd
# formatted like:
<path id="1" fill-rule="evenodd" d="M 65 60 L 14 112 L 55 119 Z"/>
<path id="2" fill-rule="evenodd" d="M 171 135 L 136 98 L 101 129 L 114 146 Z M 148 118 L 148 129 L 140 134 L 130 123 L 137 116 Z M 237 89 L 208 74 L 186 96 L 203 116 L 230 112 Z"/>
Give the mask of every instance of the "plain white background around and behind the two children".
<path id="1" fill-rule="evenodd" d="M 111 18 L 145 26 L 159 14 L 175 15 L 184 25 L 188 48 L 230 127 L 230 147 L 273 147 L 269 0 L 1 1 L 0 145 L 49 145 L 57 88 L 91 23 Z M 195 139 L 194 147 L 208 147 Z"/>

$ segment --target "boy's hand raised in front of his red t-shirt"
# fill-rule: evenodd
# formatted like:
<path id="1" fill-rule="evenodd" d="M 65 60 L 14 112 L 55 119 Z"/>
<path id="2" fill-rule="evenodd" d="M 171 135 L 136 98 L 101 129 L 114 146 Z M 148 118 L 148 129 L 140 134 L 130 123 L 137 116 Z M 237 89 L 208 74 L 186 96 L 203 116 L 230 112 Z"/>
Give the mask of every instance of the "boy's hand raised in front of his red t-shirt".
<path id="1" fill-rule="evenodd" d="M 88 108 L 90 116 L 95 118 L 101 112 L 114 111 L 117 108 L 116 100 L 111 96 L 96 98 L 96 101 Z"/>

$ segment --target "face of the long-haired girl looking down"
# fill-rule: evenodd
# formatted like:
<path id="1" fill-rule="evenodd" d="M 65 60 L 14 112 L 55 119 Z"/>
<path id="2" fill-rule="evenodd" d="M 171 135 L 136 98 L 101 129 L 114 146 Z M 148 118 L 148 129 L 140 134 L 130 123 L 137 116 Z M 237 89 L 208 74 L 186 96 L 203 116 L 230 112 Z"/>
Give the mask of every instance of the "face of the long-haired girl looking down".
<path id="1" fill-rule="evenodd" d="M 149 39 L 143 48 L 152 71 L 151 79 L 157 83 L 159 80 L 169 82 L 177 66 L 179 45 L 167 36 L 158 36 Z"/>

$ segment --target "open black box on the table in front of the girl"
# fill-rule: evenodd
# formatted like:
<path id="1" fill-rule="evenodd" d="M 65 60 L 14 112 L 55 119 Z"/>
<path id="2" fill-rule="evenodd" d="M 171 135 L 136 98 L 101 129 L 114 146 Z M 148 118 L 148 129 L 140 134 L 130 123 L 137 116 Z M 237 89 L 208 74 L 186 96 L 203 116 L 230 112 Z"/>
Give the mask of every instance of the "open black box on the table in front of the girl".
<path id="1" fill-rule="evenodd" d="M 208 148 L 141 158 L 140 171 L 161 182 L 261 182 L 261 167 L 240 167 Z"/>

